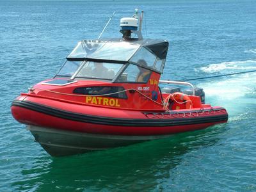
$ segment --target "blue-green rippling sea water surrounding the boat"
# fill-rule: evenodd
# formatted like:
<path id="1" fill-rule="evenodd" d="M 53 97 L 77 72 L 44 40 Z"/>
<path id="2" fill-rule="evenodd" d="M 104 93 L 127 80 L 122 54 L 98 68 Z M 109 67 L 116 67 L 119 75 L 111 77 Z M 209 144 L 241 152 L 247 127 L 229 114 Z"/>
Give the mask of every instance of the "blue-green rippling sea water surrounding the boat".
<path id="1" fill-rule="evenodd" d="M 256 191 L 256 73 L 191 81 L 227 124 L 129 147 L 54 158 L 13 119 L 15 97 L 134 8 L 170 42 L 162 79 L 256 70 L 256 1 L 0 1 L 0 191 Z"/>

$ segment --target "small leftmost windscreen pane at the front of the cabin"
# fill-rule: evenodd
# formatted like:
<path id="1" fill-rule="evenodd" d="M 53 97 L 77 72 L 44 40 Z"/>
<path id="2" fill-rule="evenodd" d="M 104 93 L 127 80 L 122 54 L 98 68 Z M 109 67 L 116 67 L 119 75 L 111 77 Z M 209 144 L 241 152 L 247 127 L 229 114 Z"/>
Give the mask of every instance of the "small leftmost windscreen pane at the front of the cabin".
<path id="1" fill-rule="evenodd" d="M 71 77 L 83 61 L 66 61 L 56 76 Z"/>

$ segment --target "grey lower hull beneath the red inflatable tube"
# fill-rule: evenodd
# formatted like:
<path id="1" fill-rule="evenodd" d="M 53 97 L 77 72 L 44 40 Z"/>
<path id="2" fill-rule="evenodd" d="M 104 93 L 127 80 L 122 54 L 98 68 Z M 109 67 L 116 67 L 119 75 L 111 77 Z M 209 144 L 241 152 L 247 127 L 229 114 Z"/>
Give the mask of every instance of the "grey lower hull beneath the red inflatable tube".
<path id="1" fill-rule="evenodd" d="M 120 136 L 108 134 L 89 134 L 85 132 L 63 131 L 48 127 L 28 125 L 27 129 L 51 156 L 71 156 L 96 150 L 123 147 L 143 141 L 167 138 L 170 135 L 157 136 Z"/>

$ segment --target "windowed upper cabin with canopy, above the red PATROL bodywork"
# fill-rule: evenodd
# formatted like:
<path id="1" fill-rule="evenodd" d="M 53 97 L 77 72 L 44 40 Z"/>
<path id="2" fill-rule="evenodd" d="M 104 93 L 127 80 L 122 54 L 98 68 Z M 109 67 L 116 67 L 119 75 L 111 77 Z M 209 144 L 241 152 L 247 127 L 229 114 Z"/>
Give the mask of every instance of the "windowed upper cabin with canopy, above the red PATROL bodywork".
<path id="1" fill-rule="evenodd" d="M 152 73 L 159 75 L 156 80 L 163 74 L 167 51 L 168 42 L 163 40 L 83 40 L 55 78 L 148 83 Z"/>

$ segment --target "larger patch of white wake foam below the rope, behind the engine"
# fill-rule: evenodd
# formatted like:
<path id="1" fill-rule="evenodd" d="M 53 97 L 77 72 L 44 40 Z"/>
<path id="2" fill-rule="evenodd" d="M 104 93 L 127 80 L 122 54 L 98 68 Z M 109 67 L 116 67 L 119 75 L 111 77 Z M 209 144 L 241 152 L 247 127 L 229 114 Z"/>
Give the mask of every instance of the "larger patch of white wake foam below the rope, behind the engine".
<path id="1" fill-rule="evenodd" d="M 224 107 L 230 116 L 236 116 L 255 104 L 255 82 L 255 74 L 254 76 L 243 74 L 230 79 L 200 83 L 197 86 L 204 88 L 206 103 Z"/>

